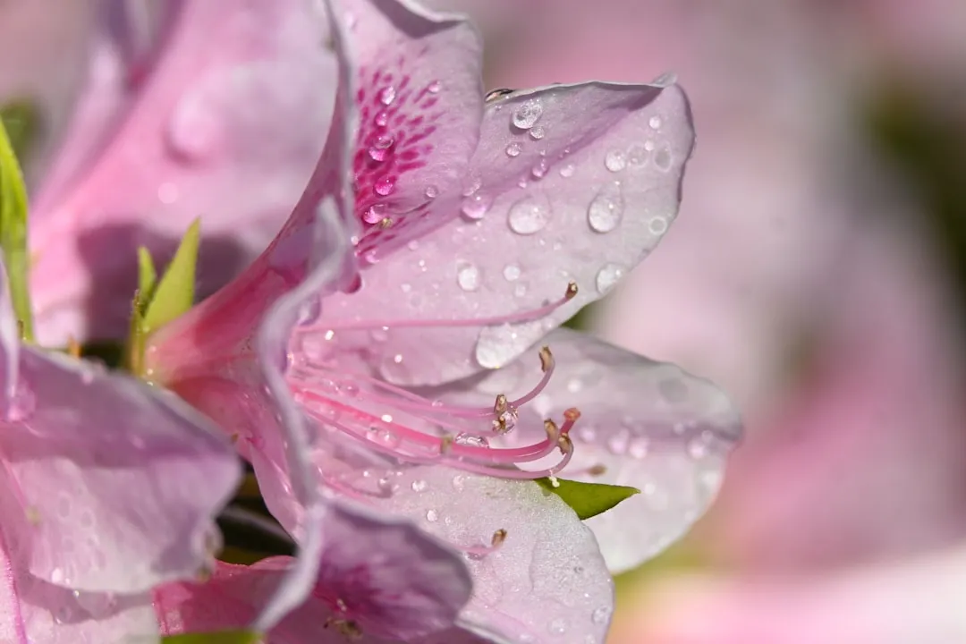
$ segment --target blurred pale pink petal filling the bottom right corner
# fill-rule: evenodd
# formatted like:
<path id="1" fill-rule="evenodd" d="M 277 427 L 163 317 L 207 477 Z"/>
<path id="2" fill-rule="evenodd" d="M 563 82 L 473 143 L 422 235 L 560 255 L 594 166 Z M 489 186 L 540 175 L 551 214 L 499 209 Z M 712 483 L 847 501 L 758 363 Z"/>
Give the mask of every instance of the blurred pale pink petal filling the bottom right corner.
<path id="1" fill-rule="evenodd" d="M 966 640 L 966 550 L 831 576 L 661 579 L 615 644 L 954 644 Z"/>

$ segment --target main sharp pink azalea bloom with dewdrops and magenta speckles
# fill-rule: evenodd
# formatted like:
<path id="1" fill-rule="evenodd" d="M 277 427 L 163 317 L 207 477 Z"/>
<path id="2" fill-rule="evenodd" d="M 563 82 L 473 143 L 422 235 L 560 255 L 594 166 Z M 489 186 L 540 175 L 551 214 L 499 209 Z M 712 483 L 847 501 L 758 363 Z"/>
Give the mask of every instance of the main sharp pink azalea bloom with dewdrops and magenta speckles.
<path id="1" fill-rule="evenodd" d="M 464 20 L 362 0 L 337 15 L 308 188 L 238 280 L 152 339 L 151 378 L 238 436 L 303 543 L 327 497 L 410 518 L 468 557 L 458 625 L 602 641 L 605 560 L 633 567 L 684 532 L 740 431 L 710 383 L 552 331 L 674 218 L 686 99 L 665 79 L 484 101 Z M 553 352 L 527 351 L 548 333 Z M 643 493 L 584 526 L 526 482 L 558 473 Z"/>

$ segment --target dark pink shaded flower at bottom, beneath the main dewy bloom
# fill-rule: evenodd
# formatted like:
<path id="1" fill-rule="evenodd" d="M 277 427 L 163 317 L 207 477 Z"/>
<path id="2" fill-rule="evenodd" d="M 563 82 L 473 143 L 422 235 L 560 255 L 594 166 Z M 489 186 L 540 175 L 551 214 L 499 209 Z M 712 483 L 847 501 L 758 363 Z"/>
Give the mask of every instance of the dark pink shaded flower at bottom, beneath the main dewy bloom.
<path id="1" fill-rule="evenodd" d="M 311 596 L 270 630 L 271 642 L 340 642 L 357 631 L 412 641 L 451 627 L 469 600 L 466 565 L 408 521 L 387 522 L 333 506 L 326 532 Z M 158 589 L 161 631 L 246 627 L 285 582 L 291 565 L 291 557 L 251 567 L 219 564 L 209 582 Z"/>

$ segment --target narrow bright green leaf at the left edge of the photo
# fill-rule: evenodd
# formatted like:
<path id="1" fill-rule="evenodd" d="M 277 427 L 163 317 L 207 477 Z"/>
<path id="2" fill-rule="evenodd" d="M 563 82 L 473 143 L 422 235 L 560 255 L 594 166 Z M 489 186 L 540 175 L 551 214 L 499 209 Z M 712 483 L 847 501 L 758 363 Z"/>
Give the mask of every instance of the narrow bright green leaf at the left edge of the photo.
<path id="1" fill-rule="evenodd" d="M 27 271 L 27 191 L 23 175 L 16 162 L 14 149 L 7 137 L 7 128 L 0 123 L 0 249 L 3 249 L 10 280 L 10 294 L 14 314 L 20 326 L 20 336 L 27 342 L 34 339 L 30 292 Z"/>

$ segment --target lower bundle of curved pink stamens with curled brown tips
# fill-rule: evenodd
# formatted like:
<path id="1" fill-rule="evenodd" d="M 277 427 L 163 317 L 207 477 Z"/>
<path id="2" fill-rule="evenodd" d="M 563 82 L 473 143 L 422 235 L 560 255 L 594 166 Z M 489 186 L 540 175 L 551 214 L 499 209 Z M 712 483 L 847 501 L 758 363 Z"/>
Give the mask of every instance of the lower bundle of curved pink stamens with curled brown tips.
<path id="1" fill-rule="evenodd" d="M 329 372 L 297 364 L 287 377 L 303 410 L 317 422 L 362 441 L 370 449 L 402 462 L 438 463 L 476 474 L 509 479 L 554 477 L 574 452 L 570 431 L 580 418 L 576 408 L 557 425 L 543 422 L 543 439 L 521 447 L 494 447 L 490 439 L 518 429 L 520 408 L 535 399 L 554 374 L 554 356 L 540 350 L 543 377 L 516 399 L 504 394 L 493 406 L 458 406 L 431 401 L 378 378 Z M 521 469 L 560 452 L 551 467 Z"/>

